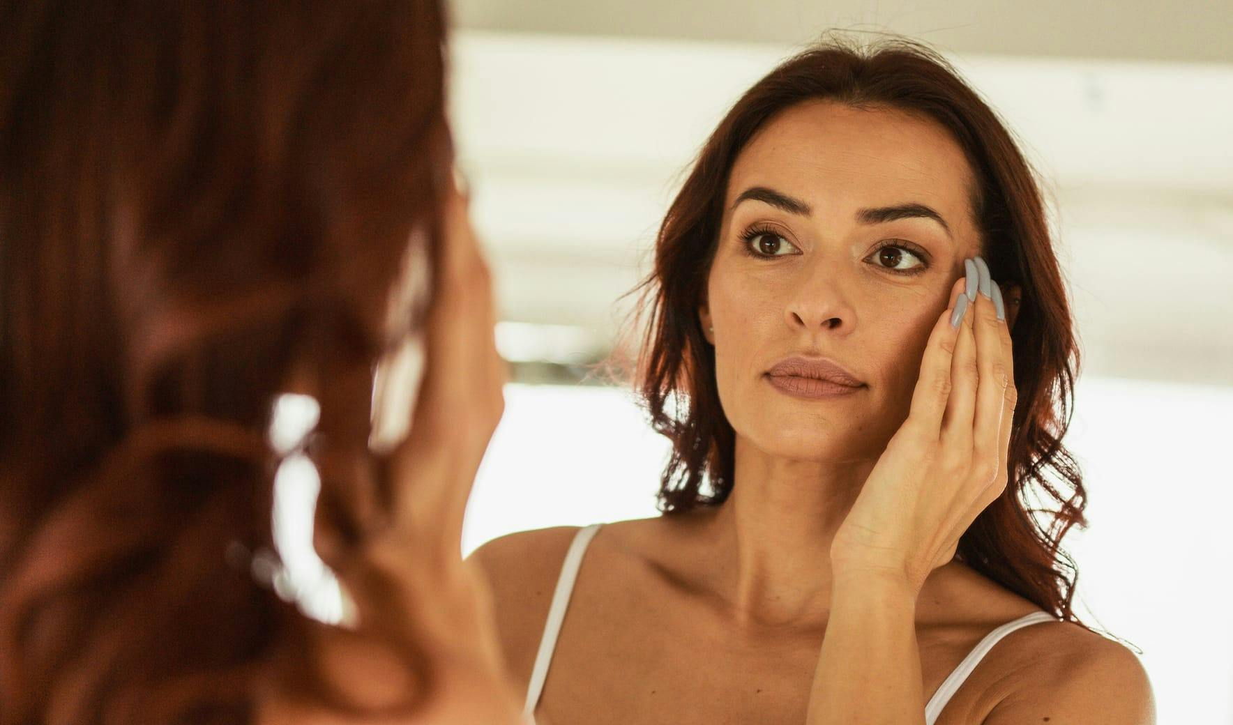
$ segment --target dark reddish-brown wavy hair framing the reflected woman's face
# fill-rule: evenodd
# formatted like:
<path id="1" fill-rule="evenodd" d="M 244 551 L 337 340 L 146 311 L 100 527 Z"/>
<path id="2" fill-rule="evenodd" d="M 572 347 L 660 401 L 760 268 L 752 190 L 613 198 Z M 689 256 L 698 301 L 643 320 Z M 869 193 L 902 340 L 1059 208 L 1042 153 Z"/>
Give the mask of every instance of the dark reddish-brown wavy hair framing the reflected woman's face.
<path id="1" fill-rule="evenodd" d="M 980 254 L 1002 286 L 1022 285 L 1023 298 L 1012 333 L 1018 406 L 1010 480 L 963 535 L 957 555 L 1041 608 L 1078 621 L 1070 607 L 1078 570 L 1059 543 L 1070 526 L 1086 525 L 1083 480 L 1060 443 L 1079 351 L 1041 190 L 996 113 L 940 54 L 915 41 L 861 47 L 836 38 L 782 63 L 727 112 L 668 208 L 653 270 L 640 285 L 650 324 L 636 375 L 652 425 L 672 441 L 660 509 L 672 514 L 718 506 L 735 485 L 735 433 L 720 406 L 715 353 L 698 308 L 737 154 L 776 113 L 819 99 L 931 118 L 967 154 L 977 181 L 972 213 L 981 233 Z M 1033 488 L 1058 508 L 1033 513 L 1021 498 Z"/>

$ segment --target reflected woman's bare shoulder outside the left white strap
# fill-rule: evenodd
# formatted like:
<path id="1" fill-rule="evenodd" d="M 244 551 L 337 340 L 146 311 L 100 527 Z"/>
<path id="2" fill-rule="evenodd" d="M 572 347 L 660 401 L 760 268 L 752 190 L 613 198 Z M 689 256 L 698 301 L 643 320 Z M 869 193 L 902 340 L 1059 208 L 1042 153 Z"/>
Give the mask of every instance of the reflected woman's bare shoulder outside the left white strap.
<path id="1" fill-rule="evenodd" d="M 577 533 L 578 526 L 518 531 L 467 557 L 488 580 L 506 663 L 520 683 L 530 679 L 561 563 Z"/>

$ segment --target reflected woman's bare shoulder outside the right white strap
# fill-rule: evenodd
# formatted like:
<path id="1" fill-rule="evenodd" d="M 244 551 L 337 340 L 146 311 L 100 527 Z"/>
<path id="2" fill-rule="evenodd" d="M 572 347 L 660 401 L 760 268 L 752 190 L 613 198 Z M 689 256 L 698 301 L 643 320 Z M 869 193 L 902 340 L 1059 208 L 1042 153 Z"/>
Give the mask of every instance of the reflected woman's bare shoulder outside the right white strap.
<path id="1" fill-rule="evenodd" d="M 1121 642 L 1071 623 L 1023 628 L 999 699 L 984 725 L 1091 723 L 1154 725 L 1152 683 Z"/>

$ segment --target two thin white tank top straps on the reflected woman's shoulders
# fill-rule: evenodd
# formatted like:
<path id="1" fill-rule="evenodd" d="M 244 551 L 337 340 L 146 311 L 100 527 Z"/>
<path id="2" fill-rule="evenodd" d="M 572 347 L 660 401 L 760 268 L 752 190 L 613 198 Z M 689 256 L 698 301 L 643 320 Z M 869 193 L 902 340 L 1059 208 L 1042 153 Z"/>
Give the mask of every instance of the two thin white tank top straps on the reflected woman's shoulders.
<path id="1" fill-rule="evenodd" d="M 556 637 L 561 634 L 561 624 L 565 621 L 565 610 L 570 605 L 570 594 L 573 593 L 573 582 L 578 578 L 578 568 L 582 566 L 582 555 L 587 551 L 587 545 L 591 544 L 591 539 L 599 530 L 602 524 L 591 524 L 573 536 L 573 541 L 570 544 L 570 550 L 565 554 L 565 562 L 561 565 L 561 576 L 556 581 L 556 591 L 552 592 L 552 604 L 547 609 L 547 621 L 544 624 L 544 636 L 540 639 L 539 652 L 535 655 L 535 666 L 531 667 L 531 681 L 526 688 L 526 704 L 523 708 L 523 720 L 528 725 L 535 725 L 535 705 L 539 704 L 540 694 L 544 692 L 544 681 L 547 679 L 547 666 L 552 661 L 552 652 L 556 650 Z M 937 721 L 937 716 L 942 713 L 942 708 L 946 703 L 951 702 L 951 697 L 959 689 L 959 686 L 972 674 L 972 671 L 977 668 L 980 660 L 984 658 L 989 650 L 993 649 L 1004 636 L 1015 631 L 1016 629 L 1025 628 L 1030 624 L 1036 624 L 1038 621 L 1060 621 L 1053 614 L 1044 612 L 1032 612 L 1007 621 L 1006 624 L 993 630 L 983 640 L 980 640 L 975 647 L 968 652 L 968 656 L 959 662 L 959 666 L 954 668 L 951 674 L 942 681 L 942 684 L 930 698 L 927 705 L 925 705 L 925 723 L 926 725 L 933 725 Z"/>

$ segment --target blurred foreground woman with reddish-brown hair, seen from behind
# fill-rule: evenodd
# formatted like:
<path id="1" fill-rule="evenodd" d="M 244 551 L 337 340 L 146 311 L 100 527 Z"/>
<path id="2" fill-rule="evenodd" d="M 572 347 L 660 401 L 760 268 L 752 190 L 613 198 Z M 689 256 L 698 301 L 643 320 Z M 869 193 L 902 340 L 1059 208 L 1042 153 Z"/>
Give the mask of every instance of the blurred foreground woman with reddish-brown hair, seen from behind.
<path id="1" fill-rule="evenodd" d="M 434 0 L 6 5 L 0 724 L 517 720 L 459 557 L 504 374 L 444 33 Z M 374 430 L 417 350 L 409 434 Z M 285 392 L 319 419 L 275 451 Z M 344 626 L 270 587 L 284 455 Z"/>

